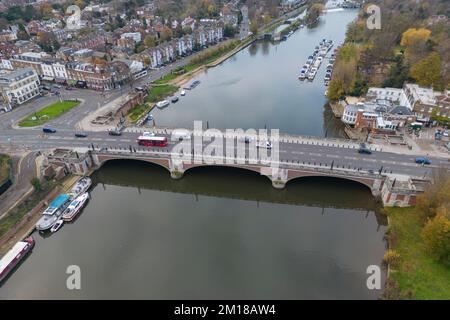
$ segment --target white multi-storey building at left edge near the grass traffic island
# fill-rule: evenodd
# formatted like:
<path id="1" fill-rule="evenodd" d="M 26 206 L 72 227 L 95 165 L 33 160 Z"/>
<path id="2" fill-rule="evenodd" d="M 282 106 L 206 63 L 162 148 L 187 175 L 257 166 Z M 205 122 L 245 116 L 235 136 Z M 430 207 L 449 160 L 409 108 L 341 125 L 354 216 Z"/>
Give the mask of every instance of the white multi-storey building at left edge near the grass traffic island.
<path id="1" fill-rule="evenodd" d="M 0 76 L 0 93 L 8 109 L 39 95 L 39 77 L 33 68 L 24 68 Z"/>

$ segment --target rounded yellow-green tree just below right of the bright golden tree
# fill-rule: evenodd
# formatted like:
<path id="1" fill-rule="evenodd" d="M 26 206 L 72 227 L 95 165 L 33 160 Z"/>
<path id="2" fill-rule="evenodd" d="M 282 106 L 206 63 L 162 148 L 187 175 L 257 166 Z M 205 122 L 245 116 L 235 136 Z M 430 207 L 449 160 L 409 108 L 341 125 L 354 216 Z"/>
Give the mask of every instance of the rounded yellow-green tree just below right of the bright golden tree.
<path id="1" fill-rule="evenodd" d="M 411 77 L 421 86 L 437 88 L 441 84 L 441 57 L 432 52 L 412 66 Z"/>

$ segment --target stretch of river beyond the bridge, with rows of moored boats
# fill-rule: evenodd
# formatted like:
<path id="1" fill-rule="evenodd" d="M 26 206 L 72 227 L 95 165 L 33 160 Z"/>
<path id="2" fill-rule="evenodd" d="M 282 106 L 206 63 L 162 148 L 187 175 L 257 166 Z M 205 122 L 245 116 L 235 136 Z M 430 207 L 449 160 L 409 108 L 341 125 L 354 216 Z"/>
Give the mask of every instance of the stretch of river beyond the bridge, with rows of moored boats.
<path id="1" fill-rule="evenodd" d="M 175 104 L 155 108 L 157 126 L 192 128 L 194 120 L 212 128 L 271 128 L 313 136 L 343 136 L 343 127 L 325 108 L 325 59 L 313 82 L 298 80 L 300 68 L 323 39 L 336 45 L 357 11 L 329 13 L 318 27 L 301 29 L 287 41 L 251 44 L 199 75 L 201 84 Z M 332 51 L 331 51 L 332 52 Z M 205 124 L 206 126 L 206 124 Z"/>

